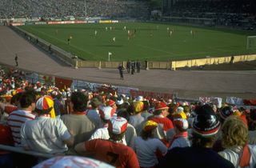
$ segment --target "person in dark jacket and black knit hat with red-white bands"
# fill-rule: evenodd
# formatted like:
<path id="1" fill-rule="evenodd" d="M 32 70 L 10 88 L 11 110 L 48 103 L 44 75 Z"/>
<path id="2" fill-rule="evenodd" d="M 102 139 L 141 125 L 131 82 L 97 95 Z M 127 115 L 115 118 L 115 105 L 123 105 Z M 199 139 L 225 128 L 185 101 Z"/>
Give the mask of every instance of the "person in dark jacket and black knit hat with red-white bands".
<path id="1" fill-rule="evenodd" d="M 220 126 L 218 117 L 209 105 L 199 107 L 193 122 L 192 146 L 169 150 L 157 167 L 234 167 L 211 149 Z"/>

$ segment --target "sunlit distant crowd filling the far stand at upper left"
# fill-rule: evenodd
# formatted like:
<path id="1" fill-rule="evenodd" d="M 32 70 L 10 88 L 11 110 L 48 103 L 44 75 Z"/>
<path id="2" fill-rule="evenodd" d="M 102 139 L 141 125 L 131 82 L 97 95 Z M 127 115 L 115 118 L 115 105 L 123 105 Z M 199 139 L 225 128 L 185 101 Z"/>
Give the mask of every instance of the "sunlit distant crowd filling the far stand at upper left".
<path id="1" fill-rule="evenodd" d="M 130 17 L 147 18 L 149 4 L 118 0 L 2 0 L 0 18 Z"/>

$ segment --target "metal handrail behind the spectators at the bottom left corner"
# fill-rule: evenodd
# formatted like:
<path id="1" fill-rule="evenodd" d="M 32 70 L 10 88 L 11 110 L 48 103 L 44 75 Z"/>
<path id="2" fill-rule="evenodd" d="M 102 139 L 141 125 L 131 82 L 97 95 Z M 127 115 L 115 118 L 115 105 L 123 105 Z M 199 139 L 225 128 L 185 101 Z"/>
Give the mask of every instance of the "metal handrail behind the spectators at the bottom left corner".
<path id="1" fill-rule="evenodd" d="M 42 157 L 42 158 L 53 158 L 54 157 L 54 154 L 42 154 L 42 153 L 38 153 L 38 152 L 35 152 L 32 150 L 23 150 L 22 147 L 0 145 L 0 149 L 8 150 L 8 151 L 16 152 L 16 153 L 21 153 L 21 154 L 30 154 L 30 155 Z"/>

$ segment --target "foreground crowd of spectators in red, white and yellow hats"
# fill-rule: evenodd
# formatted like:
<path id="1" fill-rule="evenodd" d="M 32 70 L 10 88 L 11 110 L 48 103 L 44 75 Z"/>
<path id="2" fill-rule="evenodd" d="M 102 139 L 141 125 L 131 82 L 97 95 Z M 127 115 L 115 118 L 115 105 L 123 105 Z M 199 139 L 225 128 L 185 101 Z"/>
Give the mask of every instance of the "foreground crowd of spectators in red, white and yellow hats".
<path id="1" fill-rule="evenodd" d="M 86 167 L 78 156 L 115 167 L 256 166 L 256 110 L 62 90 L 30 83 L 17 70 L 0 72 L 0 144 L 58 156 L 0 150 L 1 167 Z"/>

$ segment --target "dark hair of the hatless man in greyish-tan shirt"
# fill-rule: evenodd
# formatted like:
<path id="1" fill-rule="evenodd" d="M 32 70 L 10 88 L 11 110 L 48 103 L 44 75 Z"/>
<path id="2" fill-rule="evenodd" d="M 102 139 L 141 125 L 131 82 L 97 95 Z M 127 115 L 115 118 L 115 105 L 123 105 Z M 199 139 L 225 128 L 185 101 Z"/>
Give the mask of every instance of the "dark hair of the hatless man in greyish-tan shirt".
<path id="1" fill-rule="evenodd" d="M 73 92 L 71 94 L 71 102 L 73 103 L 73 110 L 82 112 L 86 110 L 88 98 L 81 92 Z"/>

